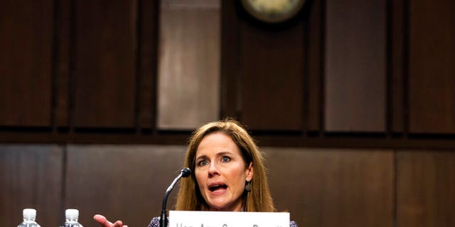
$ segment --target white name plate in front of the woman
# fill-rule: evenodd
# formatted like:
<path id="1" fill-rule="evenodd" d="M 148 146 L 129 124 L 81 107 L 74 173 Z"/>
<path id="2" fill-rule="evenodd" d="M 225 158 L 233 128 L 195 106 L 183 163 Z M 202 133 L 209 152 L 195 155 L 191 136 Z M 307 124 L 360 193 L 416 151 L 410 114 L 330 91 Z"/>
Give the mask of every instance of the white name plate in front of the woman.
<path id="1" fill-rule="evenodd" d="M 169 227 L 289 227 L 289 213 L 169 211 Z"/>

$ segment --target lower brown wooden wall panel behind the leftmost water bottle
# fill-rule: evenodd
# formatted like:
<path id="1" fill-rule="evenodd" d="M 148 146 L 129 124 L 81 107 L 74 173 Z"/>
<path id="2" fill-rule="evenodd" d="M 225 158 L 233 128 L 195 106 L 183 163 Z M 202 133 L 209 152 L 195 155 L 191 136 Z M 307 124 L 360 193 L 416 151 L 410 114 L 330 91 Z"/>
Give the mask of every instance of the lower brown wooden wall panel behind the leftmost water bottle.
<path id="1" fill-rule="evenodd" d="M 18 226 L 22 210 L 36 209 L 41 226 L 59 226 L 63 149 L 55 145 L 0 145 L 0 225 Z"/>

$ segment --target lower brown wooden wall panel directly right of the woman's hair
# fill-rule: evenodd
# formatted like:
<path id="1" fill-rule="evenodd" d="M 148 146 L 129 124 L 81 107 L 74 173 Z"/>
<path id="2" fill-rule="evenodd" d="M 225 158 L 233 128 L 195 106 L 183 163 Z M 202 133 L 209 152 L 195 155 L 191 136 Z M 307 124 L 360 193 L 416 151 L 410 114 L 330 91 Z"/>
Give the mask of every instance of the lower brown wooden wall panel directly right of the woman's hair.
<path id="1" fill-rule="evenodd" d="M 391 150 L 263 151 L 277 209 L 299 226 L 393 226 Z"/>

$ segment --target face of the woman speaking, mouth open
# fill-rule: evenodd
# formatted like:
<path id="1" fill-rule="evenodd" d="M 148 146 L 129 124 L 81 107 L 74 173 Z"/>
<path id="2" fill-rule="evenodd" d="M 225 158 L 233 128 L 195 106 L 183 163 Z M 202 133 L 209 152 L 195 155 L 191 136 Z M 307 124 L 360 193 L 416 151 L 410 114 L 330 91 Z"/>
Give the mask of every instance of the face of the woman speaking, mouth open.
<path id="1" fill-rule="evenodd" d="M 225 135 L 205 135 L 196 151 L 196 181 L 210 210 L 240 211 L 245 181 L 253 177 L 252 163 L 245 167 L 240 149 Z"/>

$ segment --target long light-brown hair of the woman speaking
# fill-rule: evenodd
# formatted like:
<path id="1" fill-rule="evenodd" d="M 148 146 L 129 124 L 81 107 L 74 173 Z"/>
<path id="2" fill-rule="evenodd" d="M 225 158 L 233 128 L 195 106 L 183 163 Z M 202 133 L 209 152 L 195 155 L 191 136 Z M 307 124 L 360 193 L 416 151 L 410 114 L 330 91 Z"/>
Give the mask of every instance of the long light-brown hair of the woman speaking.
<path id="1" fill-rule="evenodd" d="M 255 141 L 247 133 L 245 128 L 235 120 L 227 118 L 223 121 L 214 121 L 200 126 L 191 136 L 183 167 L 191 169 L 191 176 L 183 178 L 177 195 L 176 210 L 178 211 L 207 211 L 210 206 L 205 202 L 200 194 L 196 182 L 196 152 L 200 141 L 205 135 L 211 133 L 225 133 L 230 136 L 238 148 L 245 161 L 245 167 L 252 162 L 253 178 L 250 181 L 251 191 L 244 192 L 243 210 L 256 212 L 273 212 L 275 211 L 272 196 L 270 194 L 269 184 L 267 182 L 266 169 L 264 167 L 264 158 L 259 151 Z"/>

